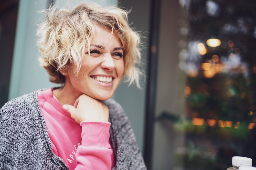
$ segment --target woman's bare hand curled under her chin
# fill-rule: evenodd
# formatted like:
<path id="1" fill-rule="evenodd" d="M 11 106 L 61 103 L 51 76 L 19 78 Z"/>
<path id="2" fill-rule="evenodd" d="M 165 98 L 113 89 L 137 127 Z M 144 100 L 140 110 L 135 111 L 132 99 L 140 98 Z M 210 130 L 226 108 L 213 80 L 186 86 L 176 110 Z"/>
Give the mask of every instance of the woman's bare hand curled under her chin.
<path id="1" fill-rule="evenodd" d="M 109 108 L 99 100 L 85 94 L 79 96 L 74 106 L 64 104 L 63 109 L 70 113 L 78 124 L 81 122 L 108 122 Z"/>

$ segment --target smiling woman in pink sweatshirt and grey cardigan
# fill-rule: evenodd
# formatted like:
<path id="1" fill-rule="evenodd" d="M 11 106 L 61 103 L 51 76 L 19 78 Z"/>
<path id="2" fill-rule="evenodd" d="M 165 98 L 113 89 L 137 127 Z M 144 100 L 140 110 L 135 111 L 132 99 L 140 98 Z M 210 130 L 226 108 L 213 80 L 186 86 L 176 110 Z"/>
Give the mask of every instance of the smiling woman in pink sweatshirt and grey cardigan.
<path id="1" fill-rule="evenodd" d="M 129 120 L 111 100 L 123 76 L 139 86 L 140 37 L 116 7 L 52 6 L 38 28 L 48 88 L 0 112 L 0 169 L 146 169 Z"/>

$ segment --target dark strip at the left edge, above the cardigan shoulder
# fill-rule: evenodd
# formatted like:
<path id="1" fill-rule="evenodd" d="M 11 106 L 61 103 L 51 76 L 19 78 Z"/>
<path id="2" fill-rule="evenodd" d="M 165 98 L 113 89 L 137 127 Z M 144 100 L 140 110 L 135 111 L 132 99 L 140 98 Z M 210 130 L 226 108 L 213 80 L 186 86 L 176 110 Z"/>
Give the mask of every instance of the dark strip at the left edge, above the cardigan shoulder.
<path id="1" fill-rule="evenodd" d="M 18 0 L 0 2 L 0 108 L 8 100 Z"/>

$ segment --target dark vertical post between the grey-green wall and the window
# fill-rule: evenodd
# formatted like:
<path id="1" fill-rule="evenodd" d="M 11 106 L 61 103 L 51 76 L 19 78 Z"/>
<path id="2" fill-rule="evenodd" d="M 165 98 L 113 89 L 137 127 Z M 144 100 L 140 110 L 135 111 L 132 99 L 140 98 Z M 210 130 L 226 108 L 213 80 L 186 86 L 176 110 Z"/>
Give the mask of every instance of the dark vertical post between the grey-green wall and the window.
<path id="1" fill-rule="evenodd" d="M 157 82 L 157 49 L 160 20 L 160 0 L 151 1 L 151 23 L 149 38 L 149 56 L 147 68 L 147 91 L 146 91 L 146 113 L 145 113 L 145 143 L 144 160 L 148 170 L 152 169 L 153 156 L 153 134 L 154 134 L 154 115 L 155 115 L 155 95 Z"/>

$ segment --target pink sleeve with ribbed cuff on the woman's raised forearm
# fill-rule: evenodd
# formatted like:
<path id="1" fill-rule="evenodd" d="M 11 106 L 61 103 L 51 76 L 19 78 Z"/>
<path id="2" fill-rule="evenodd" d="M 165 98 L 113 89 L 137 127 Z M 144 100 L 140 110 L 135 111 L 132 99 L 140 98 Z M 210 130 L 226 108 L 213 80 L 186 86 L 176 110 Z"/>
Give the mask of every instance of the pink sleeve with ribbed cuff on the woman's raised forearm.
<path id="1" fill-rule="evenodd" d="M 82 145 L 78 147 L 78 169 L 111 169 L 111 146 L 109 122 L 81 122 Z"/>

